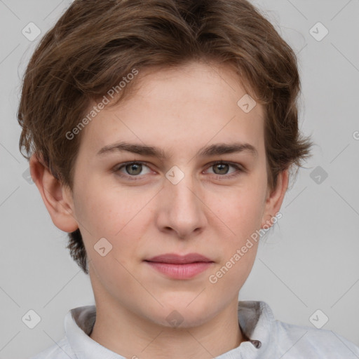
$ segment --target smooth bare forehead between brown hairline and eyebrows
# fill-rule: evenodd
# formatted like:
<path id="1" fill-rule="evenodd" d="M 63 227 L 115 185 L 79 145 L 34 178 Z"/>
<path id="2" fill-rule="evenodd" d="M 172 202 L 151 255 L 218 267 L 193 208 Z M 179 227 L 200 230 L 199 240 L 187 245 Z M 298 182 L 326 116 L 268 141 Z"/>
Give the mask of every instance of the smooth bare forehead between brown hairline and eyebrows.
<path id="1" fill-rule="evenodd" d="M 183 149 L 184 144 L 198 149 L 208 142 L 242 140 L 252 141 L 260 150 L 264 108 L 257 103 L 249 112 L 243 111 L 249 97 L 231 68 L 191 62 L 145 69 L 135 81 L 130 97 L 104 107 L 88 123 L 81 147 L 93 153 L 126 140 L 163 149 Z"/>

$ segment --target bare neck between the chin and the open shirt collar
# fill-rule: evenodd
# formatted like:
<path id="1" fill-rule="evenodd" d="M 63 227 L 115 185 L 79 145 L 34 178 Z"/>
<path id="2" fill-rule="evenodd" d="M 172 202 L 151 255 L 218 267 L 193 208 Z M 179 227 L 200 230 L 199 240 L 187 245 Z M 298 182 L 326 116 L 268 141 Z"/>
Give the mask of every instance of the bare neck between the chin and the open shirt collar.
<path id="1" fill-rule="evenodd" d="M 247 340 L 238 325 L 238 299 L 205 323 L 191 327 L 158 325 L 121 306 L 96 303 L 90 338 L 126 358 L 215 358 Z"/>

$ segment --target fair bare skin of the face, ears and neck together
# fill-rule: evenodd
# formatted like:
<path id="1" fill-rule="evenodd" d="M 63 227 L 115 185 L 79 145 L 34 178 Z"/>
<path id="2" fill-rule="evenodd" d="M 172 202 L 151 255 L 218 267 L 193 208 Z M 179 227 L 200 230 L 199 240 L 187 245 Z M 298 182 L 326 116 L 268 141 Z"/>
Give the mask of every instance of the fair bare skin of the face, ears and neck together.
<path id="1" fill-rule="evenodd" d="M 53 223 L 66 232 L 79 228 L 83 236 L 97 308 L 90 337 L 126 358 L 212 358 L 245 341 L 238 292 L 258 243 L 217 283 L 209 277 L 280 210 L 288 173 L 280 174 L 276 189 L 267 187 L 264 108 L 257 104 L 247 114 L 238 107 L 245 90 L 231 69 L 194 62 L 142 74 L 131 97 L 105 107 L 83 129 L 73 191 L 36 156 L 31 173 Z M 165 158 L 130 151 L 97 155 L 118 141 L 158 147 Z M 233 142 L 251 144 L 257 154 L 197 155 Z M 118 169 L 130 161 L 145 163 L 133 168 L 135 175 L 130 165 Z M 221 168 L 218 161 L 230 163 Z M 172 166 L 184 173 L 177 184 L 165 177 Z M 112 245 L 104 257 L 94 249 L 100 238 Z M 144 262 L 190 252 L 212 264 L 187 280 L 168 278 Z M 183 319 L 178 327 L 166 320 L 172 311 Z"/>

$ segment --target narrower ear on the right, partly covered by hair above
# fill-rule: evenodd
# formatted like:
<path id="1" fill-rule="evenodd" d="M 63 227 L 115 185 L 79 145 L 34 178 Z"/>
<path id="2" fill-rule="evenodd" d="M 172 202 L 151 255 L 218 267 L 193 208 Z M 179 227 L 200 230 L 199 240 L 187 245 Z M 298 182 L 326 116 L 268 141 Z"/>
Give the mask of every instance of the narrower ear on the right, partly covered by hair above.
<path id="1" fill-rule="evenodd" d="M 277 186 L 275 189 L 268 189 L 266 194 L 266 204 L 262 216 L 261 228 L 266 224 L 272 226 L 273 222 L 271 218 L 279 212 L 280 207 L 283 203 L 285 192 L 288 188 L 289 173 L 288 169 L 280 172 L 278 175 Z"/>

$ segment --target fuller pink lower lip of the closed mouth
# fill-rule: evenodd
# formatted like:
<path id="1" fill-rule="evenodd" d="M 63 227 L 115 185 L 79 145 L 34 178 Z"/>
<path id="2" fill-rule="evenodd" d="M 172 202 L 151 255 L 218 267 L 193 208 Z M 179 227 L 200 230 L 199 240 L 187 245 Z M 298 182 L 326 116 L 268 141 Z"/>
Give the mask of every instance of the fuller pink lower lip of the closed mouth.
<path id="1" fill-rule="evenodd" d="M 170 264 L 161 262 L 146 263 L 170 278 L 189 279 L 208 269 L 213 262 L 194 262 L 187 264 Z"/>

